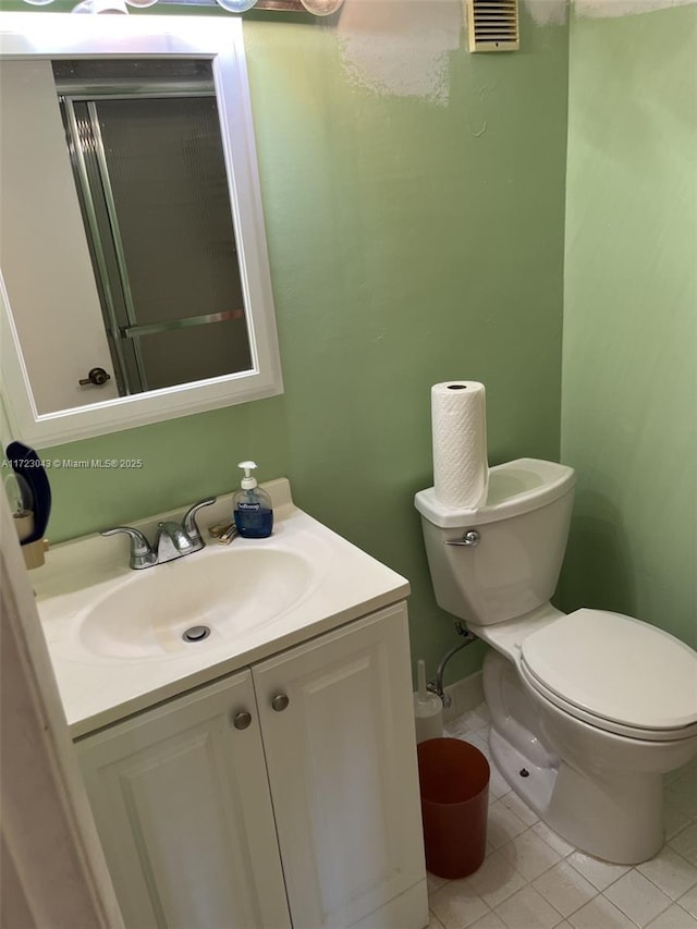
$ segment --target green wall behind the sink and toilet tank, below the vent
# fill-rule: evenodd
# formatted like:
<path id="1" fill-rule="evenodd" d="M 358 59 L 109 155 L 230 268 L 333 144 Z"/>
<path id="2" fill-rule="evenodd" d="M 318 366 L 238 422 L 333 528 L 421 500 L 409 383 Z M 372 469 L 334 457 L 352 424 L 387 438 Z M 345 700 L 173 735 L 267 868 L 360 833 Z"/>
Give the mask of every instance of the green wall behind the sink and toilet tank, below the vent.
<path id="1" fill-rule="evenodd" d="M 447 52 L 447 105 L 351 81 L 331 27 L 245 34 L 285 393 L 45 450 L 144 462 L 52 472 L 49 535 L 228 491 L 253 457 L 409 578 L 430 672 L 455 641 L 412 505 L 432 481 L 430 386 L 487 384 L 492 464 L 559 457 L 567 29 L 524 13 L 522 52 Z"/>

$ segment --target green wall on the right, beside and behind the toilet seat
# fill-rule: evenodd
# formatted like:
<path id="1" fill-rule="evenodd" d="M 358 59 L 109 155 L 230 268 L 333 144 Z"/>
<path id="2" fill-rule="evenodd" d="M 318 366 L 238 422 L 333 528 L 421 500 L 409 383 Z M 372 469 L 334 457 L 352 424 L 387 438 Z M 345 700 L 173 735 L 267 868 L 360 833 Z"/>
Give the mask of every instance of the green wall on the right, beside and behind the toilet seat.
<path id="1" fill-rule="evenodd" d="M 564 606 L 697 646 L 697 5 L 571 24 Z"/>

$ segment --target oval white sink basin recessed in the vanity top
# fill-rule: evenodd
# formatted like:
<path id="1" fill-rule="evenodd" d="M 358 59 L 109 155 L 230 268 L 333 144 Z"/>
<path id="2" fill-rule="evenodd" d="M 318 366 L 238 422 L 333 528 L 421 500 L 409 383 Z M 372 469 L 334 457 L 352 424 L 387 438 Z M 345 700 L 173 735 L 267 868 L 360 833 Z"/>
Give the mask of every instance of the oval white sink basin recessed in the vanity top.
<path id="1" fill-rule="evenodd" d="M 302 552 L 269 542 L 262 548 L 207 549 L 133 572 L 82 614 L 84 648 L 113 658 L 167 658 L 216 647 L 268 625 L 292 609 L 319 580 Z M 189 641 L 187 629 L 206 637 Z"/>

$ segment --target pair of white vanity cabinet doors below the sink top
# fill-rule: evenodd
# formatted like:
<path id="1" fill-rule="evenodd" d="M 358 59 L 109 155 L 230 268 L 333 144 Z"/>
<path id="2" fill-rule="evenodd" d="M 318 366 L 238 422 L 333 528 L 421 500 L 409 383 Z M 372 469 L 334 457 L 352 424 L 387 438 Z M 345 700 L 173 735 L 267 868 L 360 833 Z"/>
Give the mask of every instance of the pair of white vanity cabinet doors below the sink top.
<path id="1" fill-rule="evenodd" d="M 428 922 L 404 603 L 76 748 L 127 929 Z"/>

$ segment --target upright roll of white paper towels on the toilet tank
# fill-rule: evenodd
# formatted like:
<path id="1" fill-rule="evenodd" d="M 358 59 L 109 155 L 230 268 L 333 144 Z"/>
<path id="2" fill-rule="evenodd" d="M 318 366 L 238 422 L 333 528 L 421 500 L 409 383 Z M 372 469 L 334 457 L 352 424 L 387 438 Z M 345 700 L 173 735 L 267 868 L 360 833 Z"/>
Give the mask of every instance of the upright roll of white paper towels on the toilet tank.
<path id="1" fill-rule="evenodd" d="M 431 388 L 433 489 L 453 510 L 477 510 L 487 500 L 486 391 L 478 381 L 445 381 Z"/>

